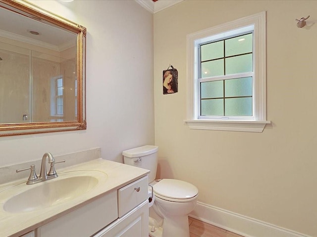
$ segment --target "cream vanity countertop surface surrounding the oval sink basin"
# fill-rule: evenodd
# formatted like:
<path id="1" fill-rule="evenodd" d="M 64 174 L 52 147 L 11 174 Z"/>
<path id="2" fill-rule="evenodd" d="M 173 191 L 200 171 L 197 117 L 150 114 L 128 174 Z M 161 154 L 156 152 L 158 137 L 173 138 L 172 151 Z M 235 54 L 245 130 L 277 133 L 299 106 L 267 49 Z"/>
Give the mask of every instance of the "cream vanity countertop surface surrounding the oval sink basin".
<path id="1" fill-rule="evenodd" d="M 59 177 L 33 185 L 26 185 L 27 179 L 20 179 L 0 185 L 0 236 L 19 237 L 97 199 L 98 197 L 102 197 L 112 190 L 117 190 L 150 172 L 146 169 L 102 158 L 80 163 L 64 169 L 56 168 L 57 174 L 60 174 L 60 177 L 63 173 L 78 170 L 101 171 L 106 173 L 107 178 L 103 181 L 102 185 L 96 186 L 84 195 L 65 201 L 61 204 L 28 212 L 9 213 L 3 210 L 3 204 L 8 198 L 12 197 L 12 192 L 19 194 L 25 190 L 32 189 L 36 185 L 57 180 Z"/>

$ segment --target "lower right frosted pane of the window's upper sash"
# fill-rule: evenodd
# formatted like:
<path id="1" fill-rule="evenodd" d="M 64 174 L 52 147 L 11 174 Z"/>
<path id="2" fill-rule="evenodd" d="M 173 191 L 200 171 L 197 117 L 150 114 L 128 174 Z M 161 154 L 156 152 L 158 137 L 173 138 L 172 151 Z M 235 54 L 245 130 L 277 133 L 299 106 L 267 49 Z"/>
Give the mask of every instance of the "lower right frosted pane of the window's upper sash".
<path id="1" fill-rule="evenodd" d="M 226 58 L 226 75 L 252 72 L 252 53 Z"/>

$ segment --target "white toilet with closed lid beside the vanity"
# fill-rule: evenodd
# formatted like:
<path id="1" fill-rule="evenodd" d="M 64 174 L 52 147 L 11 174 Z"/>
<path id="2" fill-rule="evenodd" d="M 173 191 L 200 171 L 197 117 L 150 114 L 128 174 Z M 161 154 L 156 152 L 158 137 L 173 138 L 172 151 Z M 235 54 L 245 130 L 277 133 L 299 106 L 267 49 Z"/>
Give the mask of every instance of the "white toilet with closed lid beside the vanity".
<path id="1" fill-rule="evenodd" d="M 157 146 L 143 146 L 122 152 L 124 163 L 151 170 L 149 184 L 155 201 L 149 210 L 151 237 L 189 237 L 188 214 L 194 210 L 198 189 L 185 181 L 161 179 L 155 181 L 158 166 Z"/>

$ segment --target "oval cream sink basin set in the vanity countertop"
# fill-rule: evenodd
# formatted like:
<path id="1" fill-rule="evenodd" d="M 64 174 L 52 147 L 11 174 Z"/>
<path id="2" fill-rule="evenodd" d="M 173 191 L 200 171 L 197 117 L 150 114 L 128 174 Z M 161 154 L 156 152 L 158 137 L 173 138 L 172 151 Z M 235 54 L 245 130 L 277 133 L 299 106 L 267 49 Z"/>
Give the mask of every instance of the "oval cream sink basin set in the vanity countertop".
<path id="1" fill-rule="evenodd" d="M 103 172 L 83 170 L 61 173 L 55 179 L 33 185 L 21 184 L 18 186 L 22 186 L 23 191 L 18 194 L 7 190 L 14 195 L 4 202 L 3 210 L 20 213 L 62 204 L 90 192 L 98 186 L 100 179 L 106 178 Z M 11 189 L 19 190 L 17 186 Z"/>

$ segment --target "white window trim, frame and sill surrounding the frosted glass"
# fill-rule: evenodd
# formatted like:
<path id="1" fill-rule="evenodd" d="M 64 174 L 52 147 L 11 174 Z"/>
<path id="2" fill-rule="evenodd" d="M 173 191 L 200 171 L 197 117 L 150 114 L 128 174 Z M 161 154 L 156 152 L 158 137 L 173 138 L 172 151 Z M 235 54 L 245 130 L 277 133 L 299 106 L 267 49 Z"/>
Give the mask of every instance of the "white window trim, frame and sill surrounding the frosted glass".
<path id="1" fill-rule="evenodd" d="M 191 129 L 262 132 L 266 121 L 266 22 L 265 11 L 229 23 L 202 30 L 187 36 L 187 119 Z M 242 31 L 241 31 L 242 29 Z M 230 36 L 253 30 L 253 116 L 252 118 L 201 119 L 199 116 L 199 59 L 198 45 L 212 36 Z M 240 30 L 240 32 L 239 32 Z"/>

